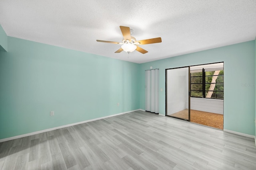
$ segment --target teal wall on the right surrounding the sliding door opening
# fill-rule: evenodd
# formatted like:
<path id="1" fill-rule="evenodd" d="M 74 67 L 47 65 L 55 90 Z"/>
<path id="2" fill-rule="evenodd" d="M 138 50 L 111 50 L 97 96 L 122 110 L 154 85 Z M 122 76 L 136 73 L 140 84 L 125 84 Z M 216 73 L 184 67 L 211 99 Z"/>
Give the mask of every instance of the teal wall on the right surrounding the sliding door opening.
<path id="1" fill-rule="evenodd" d="M 160 114 L 165 115 L 165 69 L 224 62 L 224 129 L 255 135 L 255 41 L 140 64 L 140 108 L 145 109 L 145 70 L 159 68 Z"/>

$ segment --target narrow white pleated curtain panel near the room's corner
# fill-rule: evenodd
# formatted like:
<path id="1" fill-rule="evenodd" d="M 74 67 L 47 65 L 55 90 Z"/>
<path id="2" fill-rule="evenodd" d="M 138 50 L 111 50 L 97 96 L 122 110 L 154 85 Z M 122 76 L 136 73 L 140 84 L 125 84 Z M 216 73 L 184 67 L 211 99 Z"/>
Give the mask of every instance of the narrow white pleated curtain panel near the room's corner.
<path id="1" fill-rule="evenodd" d="M 159 69 L 145 71 L 145 110 L 159 113 Z"/>

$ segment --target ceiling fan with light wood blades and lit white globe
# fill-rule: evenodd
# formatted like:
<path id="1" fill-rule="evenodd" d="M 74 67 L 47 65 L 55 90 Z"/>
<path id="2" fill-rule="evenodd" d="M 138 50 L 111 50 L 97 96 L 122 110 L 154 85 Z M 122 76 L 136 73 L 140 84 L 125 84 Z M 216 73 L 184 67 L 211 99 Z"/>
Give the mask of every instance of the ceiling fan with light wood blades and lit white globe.
<path id="1" fill-rule="evenodd" d="M 161 43 L 162 39 L 161 37 L 158 38 L 152 38 L 152 39 L 144 39 L 137 41 L 134 37 L 131 36 L 131 32 L 133 33 L 133 30 L 130 29 L 130 27 L 120 26 L 121 32 L 123 34 L 123 41 L 122 43 L 114 42 L 114 41 L 103 41 L 103 40 L 96 40 L 98 42 L 102 43 L 113 43 L 113 44 L 122 44 L 121 48 L 118 49 L 115 53 L 120 53 L 122 51 L 125 51 L 127 53 L 131 53 L 134 50 L 145 54 L 148 53 L 148 51 L 142 49 L 138 45 L 145 45 L 145 44 L 153 44 L 153 43 Z"/>

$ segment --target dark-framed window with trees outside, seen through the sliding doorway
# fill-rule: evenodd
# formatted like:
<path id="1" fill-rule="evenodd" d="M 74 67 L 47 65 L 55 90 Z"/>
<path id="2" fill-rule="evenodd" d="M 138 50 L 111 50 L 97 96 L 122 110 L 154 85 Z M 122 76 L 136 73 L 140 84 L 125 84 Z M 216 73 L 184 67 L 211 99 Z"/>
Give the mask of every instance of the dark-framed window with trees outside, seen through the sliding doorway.
<path id="1" fill-rule="evenodd" d="M 197 98 L 224 98 L 224 70 L 202 69 L 190 71 L 191 97 Z"/>

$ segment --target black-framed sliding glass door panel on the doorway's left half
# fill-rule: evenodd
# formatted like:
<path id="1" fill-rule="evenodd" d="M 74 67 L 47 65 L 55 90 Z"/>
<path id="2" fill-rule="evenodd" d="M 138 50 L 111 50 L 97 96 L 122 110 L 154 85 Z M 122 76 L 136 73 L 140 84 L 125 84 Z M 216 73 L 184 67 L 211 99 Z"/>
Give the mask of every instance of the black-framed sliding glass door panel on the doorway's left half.
<path id="1" fill-rule="evenodd" d="M 190 121 L 190 67 L 166 69 L 166 115 Z"/>

